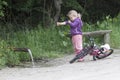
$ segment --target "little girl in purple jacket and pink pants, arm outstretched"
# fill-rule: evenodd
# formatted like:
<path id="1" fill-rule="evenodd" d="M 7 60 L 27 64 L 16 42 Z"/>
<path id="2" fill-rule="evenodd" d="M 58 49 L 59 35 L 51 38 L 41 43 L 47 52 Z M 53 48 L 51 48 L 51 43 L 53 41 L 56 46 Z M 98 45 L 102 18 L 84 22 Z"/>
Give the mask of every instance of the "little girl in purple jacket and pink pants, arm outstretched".
<path id="1" fill-rule="evenodd" d="M 60 25 L 70 25 L 70 34 L 72 36 L 72 44 L 74 47 L 75 54 L 79 54 L 82 50 L 82 20 L 81 15 L 77 13 L 75 10 L 70 10 L 67 14 L 69 17 L 68 21 L 57 22 L 57 26 Z M 79 59 L 78 61 L 83 61 L 83 59 Z"/>

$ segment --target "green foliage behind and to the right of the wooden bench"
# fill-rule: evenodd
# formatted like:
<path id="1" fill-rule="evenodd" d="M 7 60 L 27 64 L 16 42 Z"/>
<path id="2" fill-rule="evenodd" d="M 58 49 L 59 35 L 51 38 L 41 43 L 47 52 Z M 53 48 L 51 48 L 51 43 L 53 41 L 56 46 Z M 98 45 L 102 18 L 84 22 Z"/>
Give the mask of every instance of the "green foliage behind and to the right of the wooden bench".
<path id="1" fill-rule="evenodd" d="M 88 24 L 85 23 L 83 27 L 83 31 L 97 31 L 97 30 L 112 30 L 112 33 L 110 34 L 110 45 L 113 48 L 120 48 L 120 42 L 119 42 L 119 35 L 120 35 L 120 14 L 115 17 L 111 18 L 109 15 L 106 16 L 106 18 L 103 21 L 97 21 L 96 24 Z"/>

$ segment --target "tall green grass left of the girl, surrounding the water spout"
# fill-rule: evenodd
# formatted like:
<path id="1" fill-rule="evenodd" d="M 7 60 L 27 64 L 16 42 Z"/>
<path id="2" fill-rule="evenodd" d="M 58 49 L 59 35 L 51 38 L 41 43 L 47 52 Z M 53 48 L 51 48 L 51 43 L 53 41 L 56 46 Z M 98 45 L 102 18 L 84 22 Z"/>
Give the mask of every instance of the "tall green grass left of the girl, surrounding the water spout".
<path id="1" fill-rule="evenodd" d="M 11 66 L 30 60 L 25 52 L 13 52 L 14 47 L 31 49 L 34 59 L 57 58 L 72 53 L 71 41 L 65 37 L 63 32 L 65 30 L 65 27 L 44 29 L 41 26 L 33 30 L 25 29 L 16 32 L 4 30 L 4 33 L 1 33 L 3 36 L 1 47 L 4 48 L 0 49 L 2 52 L 0 55 L 5 54 L 5 56 L 0 57 L 0 65 Z"/>

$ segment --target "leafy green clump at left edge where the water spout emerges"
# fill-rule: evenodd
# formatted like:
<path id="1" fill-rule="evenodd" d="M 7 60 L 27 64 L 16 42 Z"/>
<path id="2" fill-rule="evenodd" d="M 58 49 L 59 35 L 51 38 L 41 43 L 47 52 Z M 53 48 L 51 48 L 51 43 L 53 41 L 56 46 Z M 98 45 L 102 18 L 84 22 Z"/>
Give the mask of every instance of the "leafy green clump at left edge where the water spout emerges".
<path id="1" fill-rule="evenodd" d="M 5 40 L 0 41 L 0 67 L 1 66 L 14 66 L 19 63 L 18 55 L 14 54 Z"/>

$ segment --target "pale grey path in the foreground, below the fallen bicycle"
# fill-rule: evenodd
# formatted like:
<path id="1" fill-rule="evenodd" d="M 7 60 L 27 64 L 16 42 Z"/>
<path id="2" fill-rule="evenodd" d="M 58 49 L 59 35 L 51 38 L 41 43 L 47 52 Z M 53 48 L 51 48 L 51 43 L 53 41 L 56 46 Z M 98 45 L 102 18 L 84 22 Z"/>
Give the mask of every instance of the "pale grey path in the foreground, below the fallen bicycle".
<path id="1" fill-rule="evenodd" d="M 69 64 L 68 60 L 51 67 L 5 68 L 0 70 L 0 80 L 120 80 L 120 50 L 97 61 L 86 57 L 84 62 Z"/>

